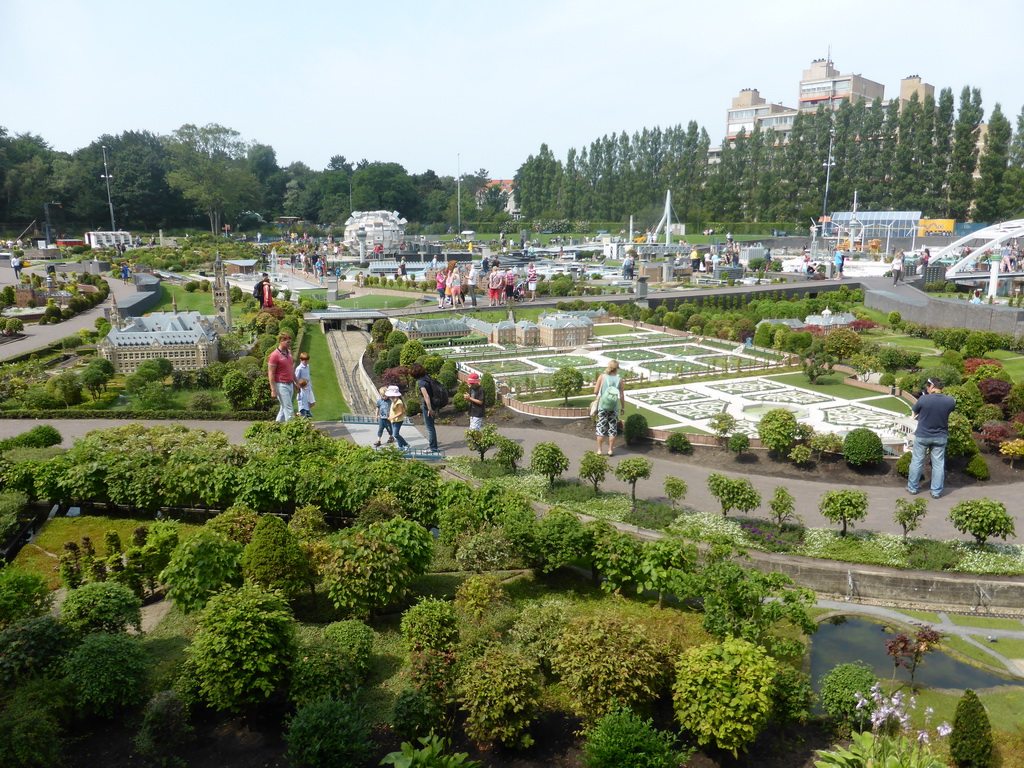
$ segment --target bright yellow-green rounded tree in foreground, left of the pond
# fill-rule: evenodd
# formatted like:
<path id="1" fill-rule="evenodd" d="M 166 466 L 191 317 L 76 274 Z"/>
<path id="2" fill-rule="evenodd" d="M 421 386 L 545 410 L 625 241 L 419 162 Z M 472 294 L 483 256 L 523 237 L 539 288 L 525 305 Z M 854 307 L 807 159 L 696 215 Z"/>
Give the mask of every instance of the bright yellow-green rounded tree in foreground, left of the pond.
<path id="1" fill-rule="evenodd" d="M 697 743 L 738 755 L 768 724 L 774 680 L 775 663 L 745 640 L 689 648 L 676 666 L 676 720 Z"/>

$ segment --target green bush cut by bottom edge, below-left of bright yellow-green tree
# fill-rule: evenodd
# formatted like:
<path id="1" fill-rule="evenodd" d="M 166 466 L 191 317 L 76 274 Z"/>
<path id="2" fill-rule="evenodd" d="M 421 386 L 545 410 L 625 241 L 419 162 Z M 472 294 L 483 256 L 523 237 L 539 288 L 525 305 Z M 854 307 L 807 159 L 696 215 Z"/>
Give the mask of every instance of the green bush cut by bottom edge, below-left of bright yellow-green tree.
<path id="1" fill-rule="evenodd" d="M 587 732 L 583 762 L 587 768 L 676 768 L 686 759 L 673 749 L 673 737 L 627 708 L 616 707 Z"/>

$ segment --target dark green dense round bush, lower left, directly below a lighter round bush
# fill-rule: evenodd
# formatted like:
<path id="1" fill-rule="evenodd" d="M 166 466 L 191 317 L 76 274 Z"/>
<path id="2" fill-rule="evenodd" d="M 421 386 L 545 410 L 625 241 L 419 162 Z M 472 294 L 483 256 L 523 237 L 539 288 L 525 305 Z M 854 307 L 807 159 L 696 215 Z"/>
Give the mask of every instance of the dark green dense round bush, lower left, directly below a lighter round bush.
<path id="1" fill-rule="evenodd" d="M 111 718 L 142 697 L 148 668 L 138 638 L 97 632 L 72 652 L 66 674 L 81 712 Z"/>

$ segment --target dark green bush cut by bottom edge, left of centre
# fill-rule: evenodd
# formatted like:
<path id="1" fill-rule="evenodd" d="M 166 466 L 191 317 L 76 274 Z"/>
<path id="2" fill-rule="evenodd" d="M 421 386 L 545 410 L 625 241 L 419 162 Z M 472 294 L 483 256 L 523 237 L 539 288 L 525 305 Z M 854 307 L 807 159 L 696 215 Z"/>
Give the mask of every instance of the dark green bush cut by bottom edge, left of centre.
<path id="1" fill-rule="evenodd" d="M 304 768 L 359 768 L 373 743 L 362 710 L 351 698 L 325 698 L 300 708 L 285 730 L 288 759 Z"/>

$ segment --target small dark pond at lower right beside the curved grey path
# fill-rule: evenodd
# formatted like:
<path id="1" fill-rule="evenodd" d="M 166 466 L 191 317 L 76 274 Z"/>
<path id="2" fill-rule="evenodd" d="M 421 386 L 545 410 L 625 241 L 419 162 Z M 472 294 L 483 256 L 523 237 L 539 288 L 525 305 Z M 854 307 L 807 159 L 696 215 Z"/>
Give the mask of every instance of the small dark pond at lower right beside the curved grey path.
<path id="1" fill-rule="evenodd" d="M 821 677 L 838 664 L 863 662 L 883 680 L 893 674 L 892 657 L 886 653 L 886 640 L 896 632 L 865 618 L 847 617 L 842 624 L 822 622 L 811 635 L 811 683 L 820 692 Z M 998 651 L 998 644 L 992 646 Z M 900 668 L 898 680 L 909 682 L 909 673 Z M 914 682 L 932 688 L 990 688 L 996 685 L 1024 685 L 1024 680 L 1004 678 L 985 670 L 959 662 L 942 651 L 925 656 L 918 667 Z"/>

